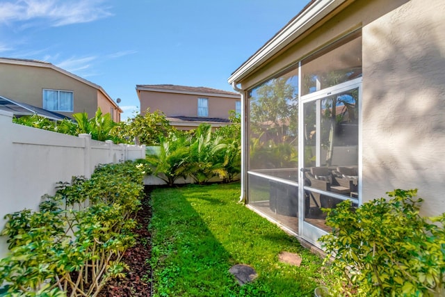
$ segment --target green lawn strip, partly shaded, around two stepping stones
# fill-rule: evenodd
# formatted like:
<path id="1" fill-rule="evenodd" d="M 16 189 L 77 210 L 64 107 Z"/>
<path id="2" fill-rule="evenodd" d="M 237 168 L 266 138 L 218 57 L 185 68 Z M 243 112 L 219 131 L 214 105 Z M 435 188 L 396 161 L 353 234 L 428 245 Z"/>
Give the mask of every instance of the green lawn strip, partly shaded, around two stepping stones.
<path id="1" fill-rule="evenodd" d="M 323 260 L 239 204 L 238 183 L 157 188 L 152 192 L 154 296 L 314 296 Z M 302 257 L 281 263 L 282 251 Z M 259 277 L 239 286 L 229 273 L 249 264 Z"/>

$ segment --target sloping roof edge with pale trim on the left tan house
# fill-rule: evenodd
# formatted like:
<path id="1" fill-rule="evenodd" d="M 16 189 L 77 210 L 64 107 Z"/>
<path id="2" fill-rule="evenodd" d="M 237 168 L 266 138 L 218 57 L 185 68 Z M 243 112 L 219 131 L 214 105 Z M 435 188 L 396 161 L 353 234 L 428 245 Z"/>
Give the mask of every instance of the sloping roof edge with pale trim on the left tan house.
<path id="1" fill-rule="evenodd" d="M 111 97 L 105 92 L 104 88 L 97 85 L 96 83 L 92 83 L 91 81 L 88 81 L 87 79 L 83 79 L 82 77 L 79 77 L 76 74 L 72 74 L 71 72 L 68 72 L 67 70 L 57 67 L 54 64 L 51 64 L 46 61 L 39 61 L 39 60 L 22 59 L 22 58 L 3 58 L 3 57 L 0 57 L 0 63 L 51 68 L 52 70 L 55 70 L 57 72 L 67 75 L 68 77 L 71 77 L 72 79 L 81 81 L 82 83 L 85 83 L 86 85 L 91 86 L 92 88 L 96 88 L 102 94 L 104 94 L 106 99 L 108 99 L 108 101 L 111 102 L 111 104 L 113 104 L 113 106 L 115 106 L 116 109 L 118 109 L 122 113 L 122 109 L 120 109 L 118 104 L 115 103 L 113 101 L 113 99 L 111 99 Z"/>

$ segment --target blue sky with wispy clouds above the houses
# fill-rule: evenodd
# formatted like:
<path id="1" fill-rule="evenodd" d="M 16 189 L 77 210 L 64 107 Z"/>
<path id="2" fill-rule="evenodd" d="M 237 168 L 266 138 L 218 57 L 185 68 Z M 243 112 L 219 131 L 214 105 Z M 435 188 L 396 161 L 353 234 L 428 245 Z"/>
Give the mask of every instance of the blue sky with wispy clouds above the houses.
<path id="1" fill-rule="evenodd" d="M 53 63 L 139 111 L 137 84 L 227 78 L 309 0 L 0 0 L 0 56 Z M 1 78 L 0 78 L 1 79 Z"/>

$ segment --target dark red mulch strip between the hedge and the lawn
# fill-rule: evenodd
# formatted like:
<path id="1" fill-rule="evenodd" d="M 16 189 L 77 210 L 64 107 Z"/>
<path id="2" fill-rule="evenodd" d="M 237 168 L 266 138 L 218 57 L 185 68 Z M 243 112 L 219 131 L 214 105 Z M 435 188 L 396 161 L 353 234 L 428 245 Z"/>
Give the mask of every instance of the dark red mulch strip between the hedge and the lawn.
<path id="1" fill-rule="evenodd" d="M 136 214 L 138 227 L 135 233 L 136 246 L 129 248 L 122 261 L 129 266 L 126 278 L 109 281 L 100 291 L 98 297 L 127 297 L 127 296 L 151 296 L 152 278 L 149 259 L 152 247 L 151 234 L 148 230 L 149 220 L 152 217 L 152 208 L 149 206 L 150 193 L 152 189 L 145 187 L 145 198 L 142 201 L 142 209 Z"/>

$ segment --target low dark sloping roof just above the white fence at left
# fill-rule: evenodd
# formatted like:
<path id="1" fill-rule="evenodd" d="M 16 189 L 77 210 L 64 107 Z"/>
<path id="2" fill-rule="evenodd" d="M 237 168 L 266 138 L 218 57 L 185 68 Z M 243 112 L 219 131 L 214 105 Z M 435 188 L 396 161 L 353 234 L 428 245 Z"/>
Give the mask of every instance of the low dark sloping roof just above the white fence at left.
<path id="1" fill-rule="evenodd" d="M 0 110 L 13 113 L 13 115 L 15 115 L 15 117 L 17 118 L 23 115 L 40 115 L 44 118 L 49 118 L 49 120 L 63 120 L 63 119 L 72 120 L 72 118 L 67 117 L 66 115 L 63 115 L 61 113 L 55 113 L 54 111 L 47 111 L 46 109 L 40 109 L 37 106 L 33 106 L 31 104 L 26 104 L 23 102 L 18 102 L 3 96 L 0 96 Z"/>

